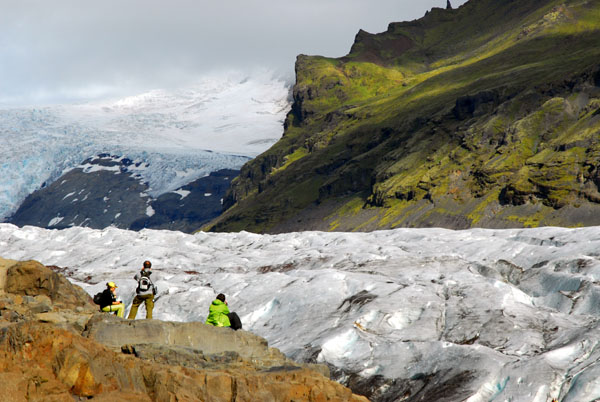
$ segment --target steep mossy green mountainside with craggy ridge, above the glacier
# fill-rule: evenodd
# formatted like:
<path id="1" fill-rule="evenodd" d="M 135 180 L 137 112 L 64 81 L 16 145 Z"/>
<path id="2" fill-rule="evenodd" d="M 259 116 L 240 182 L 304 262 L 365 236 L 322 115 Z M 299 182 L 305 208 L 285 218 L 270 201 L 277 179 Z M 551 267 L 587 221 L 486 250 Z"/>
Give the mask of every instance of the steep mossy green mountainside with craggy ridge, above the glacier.
<path id="1" fill-rule="evenodd" d="M 600 1 L 470 0 L 299 56 L 282 139 L 205 229 L 600 224 Z"/>

